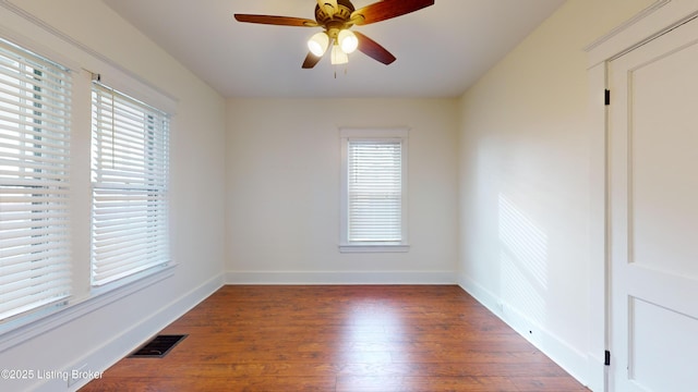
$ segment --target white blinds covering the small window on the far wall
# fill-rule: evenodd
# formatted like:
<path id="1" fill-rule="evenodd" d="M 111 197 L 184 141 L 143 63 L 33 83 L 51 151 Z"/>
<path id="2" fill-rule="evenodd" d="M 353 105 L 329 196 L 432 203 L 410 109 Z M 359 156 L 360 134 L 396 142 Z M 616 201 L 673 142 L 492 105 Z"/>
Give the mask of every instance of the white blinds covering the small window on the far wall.
<path id="1" fill-rule="evenodd" d="M 401 140 L 348 140 L 348 242 L 402 242 Z"/>

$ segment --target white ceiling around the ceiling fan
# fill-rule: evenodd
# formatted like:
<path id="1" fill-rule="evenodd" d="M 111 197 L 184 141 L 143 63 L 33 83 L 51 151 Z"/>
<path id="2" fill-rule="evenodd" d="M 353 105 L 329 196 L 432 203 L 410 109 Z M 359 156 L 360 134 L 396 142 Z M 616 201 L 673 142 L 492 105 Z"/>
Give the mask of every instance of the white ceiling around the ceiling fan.
<path id="1" fill-rule="evenodd" d="M 312 70 L 301 64 L 318 27 L 239 23 L 232 14 L 314 19 L 315 0 L 103 1 L 226 97 L 457 97 L 565 0 L 435 0 L 353 27 L 397 57 L 393 64 L 357 51 L 346 68 L 326 57 Z"/>

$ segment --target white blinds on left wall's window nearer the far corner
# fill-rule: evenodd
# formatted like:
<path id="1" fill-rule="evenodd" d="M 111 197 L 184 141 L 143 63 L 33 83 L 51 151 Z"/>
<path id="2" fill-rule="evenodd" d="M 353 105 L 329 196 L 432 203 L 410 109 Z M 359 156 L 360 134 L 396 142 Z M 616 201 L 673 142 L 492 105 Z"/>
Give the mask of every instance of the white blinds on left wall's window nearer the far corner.
<path id="1" fill-rule="evenodd" d="M 170 261 L 169 117 L 93 83 L 93 285 Z"/>

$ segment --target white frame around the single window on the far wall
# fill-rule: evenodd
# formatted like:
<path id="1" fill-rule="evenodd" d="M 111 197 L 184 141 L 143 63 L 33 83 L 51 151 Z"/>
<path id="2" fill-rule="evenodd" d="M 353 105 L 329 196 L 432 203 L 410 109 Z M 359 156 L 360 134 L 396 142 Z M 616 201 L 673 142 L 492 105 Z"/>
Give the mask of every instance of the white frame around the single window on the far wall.
<path id="1" fill-rule="evenodd" d="M 340 128 L 341 175 L 340 175 L 340 229 L 339 252 L 341 253 L 400 253 L 409 250 L 408 241 L 408 128 Z M 349 143 L 350 142 L 397 142 L 401 145 L 401 240 L 399 242 L 352 242 L 349 241 Z"/>

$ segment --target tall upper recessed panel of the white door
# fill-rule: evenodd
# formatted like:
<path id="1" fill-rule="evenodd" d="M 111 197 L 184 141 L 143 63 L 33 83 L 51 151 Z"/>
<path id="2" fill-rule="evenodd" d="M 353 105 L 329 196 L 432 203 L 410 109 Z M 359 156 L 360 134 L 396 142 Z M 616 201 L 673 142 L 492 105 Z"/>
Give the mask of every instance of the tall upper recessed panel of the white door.
<path id="1" fill-rule="evenodd" d="M 698 72 L 691 59 L 698 45 L 628 74 L 630 262 L 698 277 L 698 101 L 689 90 Z"/>

